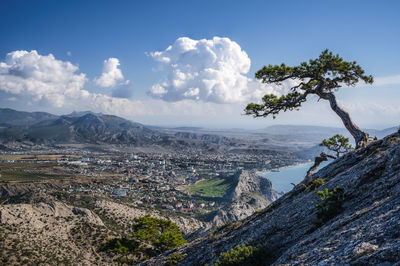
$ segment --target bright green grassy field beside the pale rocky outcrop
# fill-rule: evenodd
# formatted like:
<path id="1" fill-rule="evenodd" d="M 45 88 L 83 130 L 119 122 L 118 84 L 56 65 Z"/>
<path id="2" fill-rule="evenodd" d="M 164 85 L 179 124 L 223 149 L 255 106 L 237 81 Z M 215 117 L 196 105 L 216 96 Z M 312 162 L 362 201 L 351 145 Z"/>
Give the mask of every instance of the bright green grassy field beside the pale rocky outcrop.
<path id="1" fill-rule="evenodd" d="M 232 187 L 232 183 L 224 178 L 202 180 L 188 187 L 192 195 L 222 198 Z"/>

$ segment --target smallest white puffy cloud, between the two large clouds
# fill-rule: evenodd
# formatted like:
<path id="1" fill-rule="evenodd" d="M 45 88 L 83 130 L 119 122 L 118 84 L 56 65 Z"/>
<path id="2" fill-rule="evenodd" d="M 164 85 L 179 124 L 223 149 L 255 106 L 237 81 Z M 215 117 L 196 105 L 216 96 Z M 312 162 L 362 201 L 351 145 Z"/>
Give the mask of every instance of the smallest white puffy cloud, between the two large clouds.
<path id="1" fill-rule="evenodd" d="M 103 72 L 99 78 L 96 78 L 94 82 L 101 87 L 115 87 L 116 85 L 126 85 L 129 80 L 124 80 L 122 75 L 118 58 L 108 58 L 104 60 Z"/>

